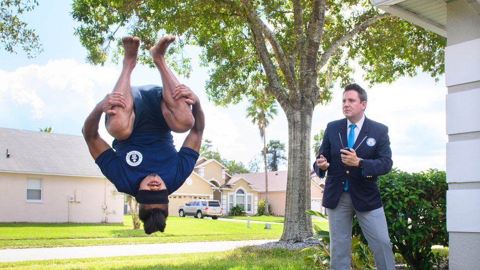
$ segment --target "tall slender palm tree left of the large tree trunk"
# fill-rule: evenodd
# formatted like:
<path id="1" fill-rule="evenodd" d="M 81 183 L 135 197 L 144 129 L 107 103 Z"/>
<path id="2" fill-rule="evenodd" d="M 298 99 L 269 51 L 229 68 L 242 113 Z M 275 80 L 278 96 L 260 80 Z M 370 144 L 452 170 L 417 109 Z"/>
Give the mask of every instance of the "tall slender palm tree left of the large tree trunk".
<path id="1" fill-rule="evenodd" d="M 252 123 L 258 125 L 260 138 L 263 139 L 263 155 L 265 162 L 265 211 L 264 215 L 270 215 L 269 211 L 269 177 L 267 166 L 267 138 L 265 129 L 270 120 L 277 115 L 278 111 L 275 105 L 275 99 L 268 96 L 264 90 L 260 90 L 258 95 L 248 99 L 250 105 L 247 107 L 247 118 L 252 119 Z"/>

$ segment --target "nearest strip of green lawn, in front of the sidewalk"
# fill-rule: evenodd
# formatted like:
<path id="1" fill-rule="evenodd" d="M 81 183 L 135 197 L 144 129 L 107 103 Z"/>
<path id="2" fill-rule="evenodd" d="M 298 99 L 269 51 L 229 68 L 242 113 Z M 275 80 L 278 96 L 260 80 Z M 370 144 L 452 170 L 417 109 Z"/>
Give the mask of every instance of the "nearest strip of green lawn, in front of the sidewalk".
<path id="1" fill-rule="evenodd" d="M 0 263 L 0 269 L 309 269 L 302 257 L 298 250 L 242 247 L 212 253 Z"/>

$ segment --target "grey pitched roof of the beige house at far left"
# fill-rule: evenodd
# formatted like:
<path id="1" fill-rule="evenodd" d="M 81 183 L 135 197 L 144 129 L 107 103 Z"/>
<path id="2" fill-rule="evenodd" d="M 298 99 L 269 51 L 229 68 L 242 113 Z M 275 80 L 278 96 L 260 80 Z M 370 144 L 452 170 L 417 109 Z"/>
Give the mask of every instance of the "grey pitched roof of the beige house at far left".
<path id="1" fill-rule="evenodd" d="M 0 172 L 104 177 L 82 136 L 0 128 L 0 151 Z"/>

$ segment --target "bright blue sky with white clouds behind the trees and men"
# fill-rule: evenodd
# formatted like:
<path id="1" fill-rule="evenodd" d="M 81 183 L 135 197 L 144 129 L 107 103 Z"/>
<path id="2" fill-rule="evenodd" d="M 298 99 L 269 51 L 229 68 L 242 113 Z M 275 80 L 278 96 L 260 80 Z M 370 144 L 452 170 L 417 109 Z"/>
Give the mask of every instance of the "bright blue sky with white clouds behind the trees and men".
<path id="1" fill-rule="evenodd" d="M 83 121 L 91 109 L 113 89 L 120 66 L 85 63 L 87 51 L 73 35 L 77 23 L 70 16 L 70 9 L 68 1 L 40 1 L 33 12 L 23 15 L 43 45 L 44 52 L 35 59 L 28 59 L 20 49 L 17 54 L 0 49 L 1 127 L 38 130 L 53 126 L 56 133 L 81 135 Z M 192 57 L 194 71 L 189 79 L 179 79 L 202 100 L 207 117 L 204 138 L 210 139 L 225 158 L 248 164 L 262 149 L 262 141 L 257 127 L 245 119 L 247 103 L 223 108 L 209 102 L 204 90 L 208 69 L 198 65 L 200 49 L 188 48 L 186 53 Z M 366 88 L 361 74 L 358 70 L 354 78 Z M 132 85 L 146 84 L 161 84 L 159 74 L 137 65 Z M 427 74 L 419 73 L 415 78 L 401 78 L 391 85 L 375 85 L 367 93 L 366 116 L 390 128 L 394 167 L 409 172 L 428 168 L 445 170 L 444 76 L 435 83 Z M 343 118 L 341 94 L 337 86 L 332 101 L 315 109 L 312 137 L 325 129 L 329 121 Z M 100 134 L 111 141 L 103 126 Z M 177 147 L 185 135 L 174 135 Z M 287 120 L 280 107 L 267 129 L 267 139 L 288 144 Z M 313 160 L 313 156 L 312 151 L 308 158 Z"/>

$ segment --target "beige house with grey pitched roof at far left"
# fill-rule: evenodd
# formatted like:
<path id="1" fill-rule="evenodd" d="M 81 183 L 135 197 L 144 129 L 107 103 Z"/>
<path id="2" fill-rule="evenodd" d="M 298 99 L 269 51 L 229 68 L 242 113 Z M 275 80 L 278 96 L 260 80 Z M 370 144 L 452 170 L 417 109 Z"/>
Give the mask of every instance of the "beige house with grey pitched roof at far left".
<path id="1" fill-rule="evenodd" d="M 0 222 L 123 222 L 81 136 L 0 128 Z"/>

